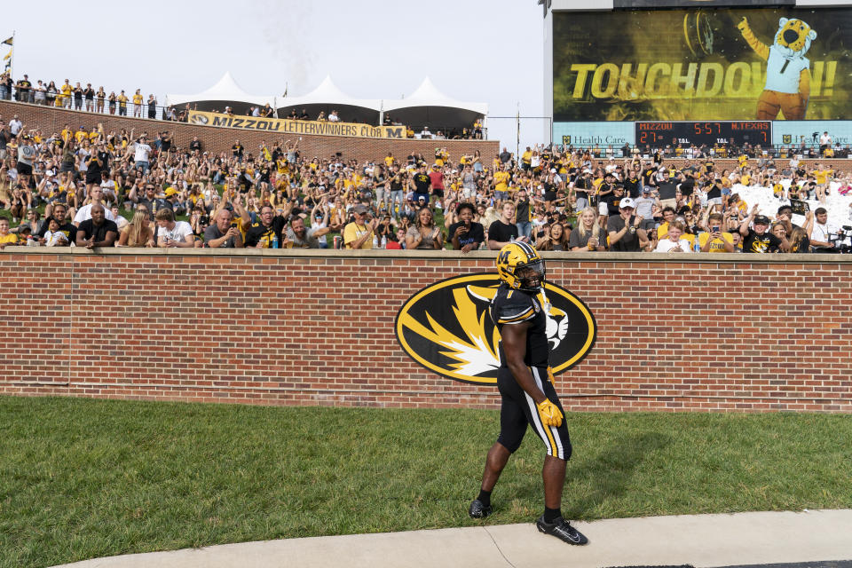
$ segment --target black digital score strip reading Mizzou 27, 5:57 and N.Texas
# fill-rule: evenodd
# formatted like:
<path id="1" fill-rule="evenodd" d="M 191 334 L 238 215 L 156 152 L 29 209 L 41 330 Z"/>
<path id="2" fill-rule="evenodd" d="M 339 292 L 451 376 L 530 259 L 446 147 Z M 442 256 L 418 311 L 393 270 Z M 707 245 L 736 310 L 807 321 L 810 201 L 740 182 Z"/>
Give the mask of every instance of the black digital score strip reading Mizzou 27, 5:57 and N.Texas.
<path id="1" fill-rule="evenodd" d="M 635 122 L 636 146 L 769 145 L 770 121 Z"/>

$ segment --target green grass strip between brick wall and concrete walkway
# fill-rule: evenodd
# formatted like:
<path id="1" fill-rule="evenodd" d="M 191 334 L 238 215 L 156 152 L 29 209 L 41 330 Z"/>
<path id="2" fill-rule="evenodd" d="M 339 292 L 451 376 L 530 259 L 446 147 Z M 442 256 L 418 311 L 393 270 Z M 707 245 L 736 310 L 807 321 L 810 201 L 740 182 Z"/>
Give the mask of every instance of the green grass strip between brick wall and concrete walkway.
<path id="1" fill-rule="evenodd" d="M 0 566 L 477 525 L 498 414 L 0 397 Z M 852 507 L 852 421 L 570 414 L 574 519 Z M 489 524 L 540 514 L 532 433 Z"/>

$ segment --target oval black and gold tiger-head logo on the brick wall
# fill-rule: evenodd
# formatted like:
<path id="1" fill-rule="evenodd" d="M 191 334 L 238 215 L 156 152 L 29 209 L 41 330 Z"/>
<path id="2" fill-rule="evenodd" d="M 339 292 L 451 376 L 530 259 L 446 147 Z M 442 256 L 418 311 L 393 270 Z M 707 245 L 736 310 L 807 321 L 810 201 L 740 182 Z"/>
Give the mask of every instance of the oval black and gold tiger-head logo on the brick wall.
<path id="1" fill-rule="evenodd" d="M 394 321 L 397 341 L 415 362 L 454 381 L 496 384 L 500 333 L 488 314 L 496 273 L 455 276 L 416 292 Z M 571 292 L 547 282 L 540 304 L 548 311 L 550 367 L 560 373 L 595 343 L 595 317 Z"/>

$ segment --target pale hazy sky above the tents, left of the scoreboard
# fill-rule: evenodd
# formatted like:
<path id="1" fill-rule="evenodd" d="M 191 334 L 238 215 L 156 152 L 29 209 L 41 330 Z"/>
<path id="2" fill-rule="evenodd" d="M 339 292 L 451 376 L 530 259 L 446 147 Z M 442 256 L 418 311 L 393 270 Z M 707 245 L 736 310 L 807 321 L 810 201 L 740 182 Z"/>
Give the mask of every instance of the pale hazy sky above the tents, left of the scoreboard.
<path id="1" fill-rule="evenodd" d="M 331 75 L 364 99 L 399 99 L 429 76 L 451 98 L 486 102 L 489 138 L 512 151 L 518 110 L 542 114 L 536 0 L 9 4 L 0 35 L 15 33 L 16 80 L 140 88 L 162 104 L 225 71 L 253 94 L 302 95 Z M 545 141 L 541 125 L 522 121 L 522 146 Z"/>

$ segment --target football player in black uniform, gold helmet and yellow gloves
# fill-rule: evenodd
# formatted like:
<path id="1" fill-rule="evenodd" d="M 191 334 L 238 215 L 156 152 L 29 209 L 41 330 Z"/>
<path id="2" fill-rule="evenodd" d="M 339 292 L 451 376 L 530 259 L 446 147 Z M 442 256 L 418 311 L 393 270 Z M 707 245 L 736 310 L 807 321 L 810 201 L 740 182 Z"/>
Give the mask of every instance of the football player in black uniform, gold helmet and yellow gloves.
<path id="1" fill-rule="evenodd" d="M 497 387 L 501 395 L 500 436 L 488 451 L 485 472 L 469 516 L 485 518 L 493 512 L 491 493 L 501 471 L 524 439 L 527 425 L 544 442 L 544 514 L 535 525 L 569 544 L 588 539 L 562 517 L 565 462 L 571 457 L 571 440 L 564 411 L 553 385 L 548 364 L 547 323 L 549 304 L 544 294 L 545 267 L 535 248 L 510 242 L 497 256 L 501 285 L 489 312 L 500 331 Z"/>

